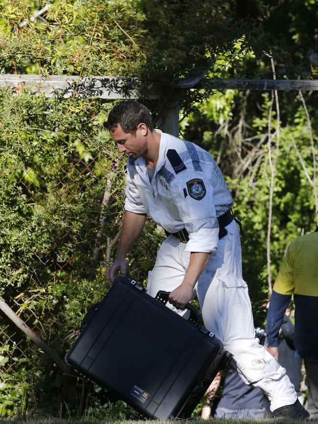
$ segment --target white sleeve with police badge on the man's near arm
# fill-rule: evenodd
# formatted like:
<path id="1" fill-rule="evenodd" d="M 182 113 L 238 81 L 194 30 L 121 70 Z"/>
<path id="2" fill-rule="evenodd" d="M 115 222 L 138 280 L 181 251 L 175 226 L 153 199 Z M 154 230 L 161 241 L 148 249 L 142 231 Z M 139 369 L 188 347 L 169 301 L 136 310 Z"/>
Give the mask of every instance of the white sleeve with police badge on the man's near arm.
<path id="1" fill-rule="evenodd" d="M 196 180 L 202 194 L 195 197 L 191 184 Z M 185 247 L 189 252 L 213 252 L 219 242 L 219 223 L 213 203 L 213 187 L 207 179 L 198 178 L 198 173 L 185 173 L 170 186 L 174 203 L 179 211 L 184 228 L 189 233 Z"/>

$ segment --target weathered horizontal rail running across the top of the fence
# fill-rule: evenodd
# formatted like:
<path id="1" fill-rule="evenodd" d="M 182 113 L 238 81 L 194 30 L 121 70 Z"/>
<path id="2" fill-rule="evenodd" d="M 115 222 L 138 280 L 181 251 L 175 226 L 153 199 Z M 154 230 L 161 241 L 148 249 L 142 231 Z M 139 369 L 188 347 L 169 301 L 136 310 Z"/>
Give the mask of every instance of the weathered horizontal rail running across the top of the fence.
<path id="1" fill-rule="evenodd" d="M 0 87 L 29 86 L 35 91 L 44 92 L 46 97 L 98 97 L 100 99 L 134 99 L 140 97 L 137 92 L 138 80 L 136 78 L 121 78 L 111 76 L 76 75 L 16 75 L 0 74 Z M 241 89 L 241 90 L 301 90 L 317 91 L 318 80 L 253 80 L 253 79 L 227 79 L 184 78 L 176 85 L 176 89 Z M 159 99 L 160 94 L 143 93 L 142 97 Z"/>

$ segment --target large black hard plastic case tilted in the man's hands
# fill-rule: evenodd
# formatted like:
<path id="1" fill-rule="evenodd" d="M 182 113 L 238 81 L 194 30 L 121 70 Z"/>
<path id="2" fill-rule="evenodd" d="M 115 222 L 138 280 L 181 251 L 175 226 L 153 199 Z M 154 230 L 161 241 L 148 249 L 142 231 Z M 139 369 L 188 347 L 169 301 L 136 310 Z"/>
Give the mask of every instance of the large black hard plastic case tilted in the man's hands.
<path id="1" fill-rule="evenodd" d="M 231 355 L 161 302 L 129 277 L 117 277 L 84 319 L 66 362 L 144 417 L 189 418 Z"/>

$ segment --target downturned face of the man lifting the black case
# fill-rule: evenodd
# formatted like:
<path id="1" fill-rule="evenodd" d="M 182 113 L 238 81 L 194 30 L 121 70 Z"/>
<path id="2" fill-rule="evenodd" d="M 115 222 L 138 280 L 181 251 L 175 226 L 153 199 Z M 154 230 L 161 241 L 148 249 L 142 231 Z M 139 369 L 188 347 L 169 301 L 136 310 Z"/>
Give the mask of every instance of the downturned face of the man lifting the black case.
<path id="1" fill-rule="evenodd" d="M 143 124 L 140 124 L 143 125 Z M 119 153 L 126 153 L 128 156 L 140 157 L 147 151 L 147 138 L 139 125 L 136 134 L 124 133 L 120 124 L 111 131 L 111 136 L 117 144 Z"/>

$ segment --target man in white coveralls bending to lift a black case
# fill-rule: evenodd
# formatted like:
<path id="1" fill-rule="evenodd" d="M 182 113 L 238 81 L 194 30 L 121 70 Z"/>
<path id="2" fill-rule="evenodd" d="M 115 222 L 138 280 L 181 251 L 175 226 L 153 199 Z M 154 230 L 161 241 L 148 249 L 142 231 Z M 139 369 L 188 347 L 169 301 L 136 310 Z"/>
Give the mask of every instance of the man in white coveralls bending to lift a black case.
<path id="1" fill-rule="evenodd" d="M 212 156 L 199 146 L 154 130 L 140 103 L 118 103 L 105 127 L 119 153 L 128 155 L 125 216 L 109 277 L 126 271 L 126 256 L 146 217 L 168 237 L 149 272 L 147 292 L 171 291 L 169 308 L 183 314 L 195 292 L 204 326 L 235 359 L 241 378 L 260 387 L 273 416 L 309 416 L 279 363 L 255 338 L 241 245 L 230 212 L 232 198 Z"/>

